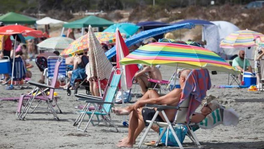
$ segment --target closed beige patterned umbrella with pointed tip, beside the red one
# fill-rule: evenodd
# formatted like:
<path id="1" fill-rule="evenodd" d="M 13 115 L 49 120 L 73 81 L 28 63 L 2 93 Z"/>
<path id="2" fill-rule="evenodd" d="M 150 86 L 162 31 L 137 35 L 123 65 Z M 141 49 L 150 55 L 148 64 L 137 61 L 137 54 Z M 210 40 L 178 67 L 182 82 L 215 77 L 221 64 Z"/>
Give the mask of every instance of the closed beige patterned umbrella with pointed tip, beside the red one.
<path id="1" fill-rule="evenodd" d="M 85 68 L 87 78 L 91 81 L 109 79 L 113 66 L 104 54 L 104 49 L 93 33 L 91 26 L 89 26 L 88 36 L 89 63 Z M 98 84 L 100 85 L 100 83 Z"/>

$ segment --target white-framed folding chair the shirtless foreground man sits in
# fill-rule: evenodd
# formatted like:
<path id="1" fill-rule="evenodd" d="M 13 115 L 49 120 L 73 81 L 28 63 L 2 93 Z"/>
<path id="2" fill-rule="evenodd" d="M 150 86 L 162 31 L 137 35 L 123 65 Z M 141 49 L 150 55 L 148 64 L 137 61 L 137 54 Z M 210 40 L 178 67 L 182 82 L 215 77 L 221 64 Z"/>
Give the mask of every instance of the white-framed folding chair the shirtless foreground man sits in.
<path id="1" fill-rule="evenodd" d="M 196 70 L 192 70 L 192 73 L 194 71 L 196 71 Z M 204 98 L 205 97 L 206 90 L 211 87 L 211 81 L 210 81 L 208 70 L 205 70 L 204 72 L 206 73 L 205 76 L 208 76 L 208 78 L 207 78 L 208 82 L 206 81 L 205 77 L 199 76 L 199 81 L 200 81 L 199 83 L 201 83 L 201 81 L 204 82 L 204 84 L 203 83 L 201 83 L 201 84 L 204 85 L 203 87 L 207 87 L 207 88 L 205 88 L 204 90 L 201 91 L 201 90 L 199 90 L 199 88 L 197 88 L 197 86 L 194 86 L 194 84 L 192 86 L 189 86 L 190 84 L 186 85 L 186 83 L 189 82 L 189 80 L 192 81 L 192 79 L 193 79 L 193 76 L 191 76 L 191 73 L 190 73 L 189 76 L 187 77 L 184 89 L 182 91 L 182 98 L 181 98 L 178 106 L 174 107 L 174 106 L 164 106 L 164 105 L 156 105 L 156 104 L 146 104 L 146 107 L 157 108 L 157 111 L 156 111 L 156 113 L 153 116 L 151 121 L 146 120 L 146 122 L 148 122 L 150 124 L 149 124 L 148 128 L 146 129 L 146 132 L 144 133 L 143 137 L 141 138 L 141 140 L 138 144 L 138 148 L 141 147 L 141 145 L 142 145 L 143 141 L 145 140 L 145 138 L 146 138 L 151 126 L 153 125 L 153 123 L 156 123 L 160 127 L 164 127 L 163 131 L 161 132 L 160 136 L 158 137 L 158 141 L 155 144 L 156 147 L 158 146 L 158 143 L 160 142 L 160 140 L 161 140 L 161 138 L 164 135 L 166 130 L 167 130 L 167 138 L 168 138 L 168 131 L 170 129 L 174 138 L 176 139 L 179 147 L 181 149 L 183 149 L 182 143 L 179 141 L 179 138 L 177 137 L 176 132 L 173 129 L 173 127 L 178 127 L 178 126 L 186 126 L 188 128 L 188 131 L 189 131 L 189 133 L 187 133 L 187 136 L 199 148 L 201 147 L 201 145 L 199 144 L 199 141 L 198 141 L 198 139 L 197 139 L 196 135 L 194 134 L 192 127 L 191 127 L 194 124 L 190 123 L 191 116 L 192 116 L 193 112 L 196 110 L 196 108 L 200 105 L 200 102 L 198 102 L 196 100 L 197 97 L 196 97 L 195 93 L 192 94 L 190 92 L 190 88 L 192 88 L 195 91 L 199 90 L 200 92 L 202 92 L 203 96 L 199 96 L 198 98 Z M 208 85 L 205 85 L 206 84 L 205 82 L 207 82 Z M 188 93 L 190 92 L 190 94 L 186 97 L 186 94 L 184 95 L 184 92 L 188 92 Z M 177 109 L 175 119 L 173 120 L 173 122 L 169 121 L 166 113 L 164 112 L 164 109 Z M 155 121 L 160 112 L 164 116 L 166 122 Z M 166 144 L 165 144 L 166 146 L 167 146 L 167 140 L 168 140 L 167 138 L 166 138 Z"/>

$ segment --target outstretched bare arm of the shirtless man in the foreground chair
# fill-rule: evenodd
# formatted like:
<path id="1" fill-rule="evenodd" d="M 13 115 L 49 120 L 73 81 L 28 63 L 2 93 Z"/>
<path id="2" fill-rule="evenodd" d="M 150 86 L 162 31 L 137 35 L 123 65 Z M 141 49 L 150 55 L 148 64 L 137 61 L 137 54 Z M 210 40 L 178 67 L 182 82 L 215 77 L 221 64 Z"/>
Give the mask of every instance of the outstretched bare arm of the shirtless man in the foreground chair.
<path id="1" fill-rule="evenodd" d="M 169 105 L 175 102 L 179 102 L 181 93 L 182 93 L 181 89 L 174 89 L 167 95 L 161 96 L 159 98 L 149 98 L 146 100 L 139 100 L 135 103 L 134 109 L 137 110 L 140 107 L 144 107 L 146 104 Z"/>

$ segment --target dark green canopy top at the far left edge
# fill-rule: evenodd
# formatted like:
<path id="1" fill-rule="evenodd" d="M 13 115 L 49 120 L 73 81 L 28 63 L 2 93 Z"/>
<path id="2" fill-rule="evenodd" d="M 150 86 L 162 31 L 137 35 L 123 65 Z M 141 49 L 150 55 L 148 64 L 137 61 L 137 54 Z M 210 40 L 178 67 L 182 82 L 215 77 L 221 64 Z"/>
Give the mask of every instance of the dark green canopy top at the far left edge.
<path id="1" fill-rule="evenodd" d="M 22 14 L 17 14 L 14 12 L 8 12 L 7 14 L 4 14 L 0 16 L 0 21 L 4 24 L 22 24 L 22 25 L 32 25 L 36 23 L 36 18 L 29 17 Z"/>

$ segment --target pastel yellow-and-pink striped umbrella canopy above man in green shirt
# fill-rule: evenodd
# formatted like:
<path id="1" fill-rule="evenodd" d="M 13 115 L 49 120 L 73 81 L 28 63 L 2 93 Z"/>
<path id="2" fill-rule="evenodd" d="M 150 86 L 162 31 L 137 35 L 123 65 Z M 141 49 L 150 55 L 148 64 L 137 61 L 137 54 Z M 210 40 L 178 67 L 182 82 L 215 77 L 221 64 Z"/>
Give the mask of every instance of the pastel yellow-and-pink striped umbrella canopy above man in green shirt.
<path id="1" fill-rule="evenodd" d="M 239 30 L 231 33 L 224 40 L 221 41 L 221 48 L 244 48 L 255 45 L 253 41 L 257 37 L 263 37 L 262 33 L 252 30 Z"/>

